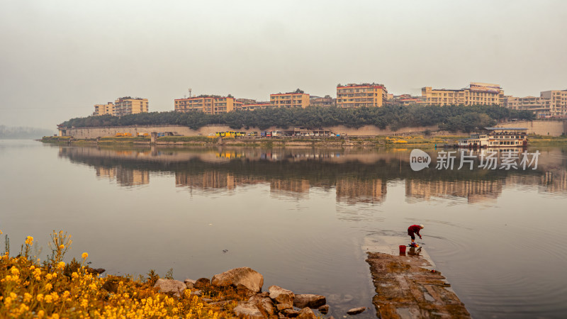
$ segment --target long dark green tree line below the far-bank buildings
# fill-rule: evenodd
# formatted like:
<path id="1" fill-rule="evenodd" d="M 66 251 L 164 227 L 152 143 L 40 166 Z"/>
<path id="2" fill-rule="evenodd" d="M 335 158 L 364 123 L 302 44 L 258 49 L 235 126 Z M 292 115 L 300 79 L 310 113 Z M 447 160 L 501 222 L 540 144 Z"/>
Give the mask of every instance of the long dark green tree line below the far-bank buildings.
<path id="1" fill-rule="evenodd" d="M 184 125 L 193 130 L 209 124 L 228 125 L 240 128 L 256 127 L 261 130 L 279 128 L 321 128 L 345 125 L 359 128 L 375 125 L 389 126 L 392 130 L 405 127 L 439 125 L 443 130 L 470 132 L 477 128 L 492 126 L 510 119 L 532 120 L 529 111 L 517 111 L 500 106 L 402 106 L 386 105 L 380 108 L 264 108 L 254 111 L 232 111 L 222 114 L 206 114 L 200 111 L 189 113 L 152 112 L 117 116 L 88 116 L 72 118 L 62 125 L 67 128 L 127 125 Z"/>

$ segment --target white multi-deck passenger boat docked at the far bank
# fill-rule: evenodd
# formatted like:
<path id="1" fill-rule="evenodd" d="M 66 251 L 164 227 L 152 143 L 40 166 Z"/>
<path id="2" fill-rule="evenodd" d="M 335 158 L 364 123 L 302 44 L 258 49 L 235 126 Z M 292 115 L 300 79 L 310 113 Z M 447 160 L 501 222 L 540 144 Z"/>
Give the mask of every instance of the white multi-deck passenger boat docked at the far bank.
<path id="1" fill-rule="evenodd" d="M 527 147 L 527 128 L 485 128 L 488 133 L 471 134 L 459 147 Z"/>

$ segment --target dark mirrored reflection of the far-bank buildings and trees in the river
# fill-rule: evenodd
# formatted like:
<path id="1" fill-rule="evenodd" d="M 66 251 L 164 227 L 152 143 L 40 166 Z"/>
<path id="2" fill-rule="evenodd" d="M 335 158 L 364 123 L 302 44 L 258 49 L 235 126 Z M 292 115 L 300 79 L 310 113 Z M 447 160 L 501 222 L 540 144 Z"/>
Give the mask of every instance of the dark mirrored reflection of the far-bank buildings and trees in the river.
<path id="1" fill-rule="evenodd" d="M 131 148 L 60 147 L 60 157 L 94 167 L 97 177 L 116 179 L 120 186 L 150 183 L 150 172 L 174 174 L 175 184 L 192 191 L 231 191 L 266 184 L 272 194 L 305 198 L 310 189 L 334 190 L 343 203 L 381 203 L 388 181 L 405 183 L 405 200 L 464 198 L 468 203 L 495 201 L 507 186 L 537 186 L 541 192 L 567 191 L 566 150 L 540 150 L 537 169 L 429 169 L 414 172 L 409 150 L 327 150 L 259 148 Z M 442 152 L 442 151 L 441 151 Z M 428 152 L 432 159 L 438 151 Z M 456 152 L 459 155 L 459 152 Z M 498 157 L 504 152 L 498 150 Z"/>

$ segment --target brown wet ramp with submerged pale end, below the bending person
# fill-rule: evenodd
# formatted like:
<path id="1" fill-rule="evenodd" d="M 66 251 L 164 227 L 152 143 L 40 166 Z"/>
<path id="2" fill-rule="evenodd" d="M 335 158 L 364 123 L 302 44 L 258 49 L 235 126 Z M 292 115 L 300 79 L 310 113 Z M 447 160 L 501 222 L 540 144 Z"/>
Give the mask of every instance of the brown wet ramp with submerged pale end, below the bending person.
<path id="1" fill-rule="evenodd" d="M 423 247 L 399 246 L 406 237 L 367 237 L 362 250 L 376 288 L 378 318 L 471 318 Z"/>

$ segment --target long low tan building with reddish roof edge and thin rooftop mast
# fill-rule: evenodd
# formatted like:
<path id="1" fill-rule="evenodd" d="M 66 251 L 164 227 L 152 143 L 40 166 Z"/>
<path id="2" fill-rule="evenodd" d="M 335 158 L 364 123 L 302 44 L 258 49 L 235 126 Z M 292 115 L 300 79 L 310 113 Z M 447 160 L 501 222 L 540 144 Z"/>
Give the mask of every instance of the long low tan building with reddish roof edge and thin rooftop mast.
<path id="1" fill-rule="evenodd" d="M 242 102 L 229 96 L 202 95 L 186 99 L 175 99 L 175 111 L 199 111 L 207 114 L 227 113 L 240 108 Z"/>

